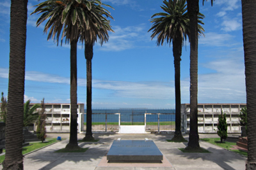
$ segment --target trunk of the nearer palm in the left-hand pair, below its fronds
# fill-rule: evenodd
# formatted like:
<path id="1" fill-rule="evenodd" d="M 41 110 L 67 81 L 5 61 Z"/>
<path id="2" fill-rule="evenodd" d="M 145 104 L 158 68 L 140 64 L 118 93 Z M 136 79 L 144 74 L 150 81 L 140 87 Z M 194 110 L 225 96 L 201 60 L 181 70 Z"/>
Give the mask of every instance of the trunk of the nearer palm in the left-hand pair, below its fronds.
<path id="1" fill-rule="evenodd" d="M 78 150 L 77 144 L 77 39 L 70 41 L 70 138 L 67 150 Z"/>

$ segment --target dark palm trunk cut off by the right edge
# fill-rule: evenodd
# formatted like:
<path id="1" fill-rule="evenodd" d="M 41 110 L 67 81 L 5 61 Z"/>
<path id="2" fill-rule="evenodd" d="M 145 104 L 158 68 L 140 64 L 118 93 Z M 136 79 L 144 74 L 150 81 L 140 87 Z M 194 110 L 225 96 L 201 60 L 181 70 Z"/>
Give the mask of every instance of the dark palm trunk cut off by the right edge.
<path id="1" fill-rule="evenodd" d="M 256 1 L 242 0 L 244 65 L 248 123 L 248 159 L 246 169 L 256 169 Z"/>

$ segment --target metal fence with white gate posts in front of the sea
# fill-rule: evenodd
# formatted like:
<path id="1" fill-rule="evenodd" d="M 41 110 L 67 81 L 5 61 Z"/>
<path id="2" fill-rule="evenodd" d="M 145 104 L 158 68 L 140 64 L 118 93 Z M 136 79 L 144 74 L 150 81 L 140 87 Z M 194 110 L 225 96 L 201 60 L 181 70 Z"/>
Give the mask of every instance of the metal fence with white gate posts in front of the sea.
<path id="1" fill-rule="evenodd" d="M 152 133 L 174 132 L 175 110 L 92 110 L 92 131 L 119 132 L 120 125 L 145 125 L 145 131 Z M 86 113 L 81 115 L 81 131 L 86 131 Z"/>

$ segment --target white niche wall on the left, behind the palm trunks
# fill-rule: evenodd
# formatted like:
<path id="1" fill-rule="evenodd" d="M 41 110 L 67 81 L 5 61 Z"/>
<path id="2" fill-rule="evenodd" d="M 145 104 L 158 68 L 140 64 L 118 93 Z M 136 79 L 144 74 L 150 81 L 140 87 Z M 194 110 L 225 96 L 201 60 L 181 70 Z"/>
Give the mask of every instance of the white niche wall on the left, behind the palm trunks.
<path id="1" fill-rule="evenodd" d="M 34 104 L 31 103 L 29 106 L 33 106 Z M 83 113 L 84 104 L 77 104 L 77 132 L 81 132 L 80 122 L 81 114 Z M 47 132 L 70 132 L 70 104 L 45 103 L 45 114 L 47 115 Z"/>

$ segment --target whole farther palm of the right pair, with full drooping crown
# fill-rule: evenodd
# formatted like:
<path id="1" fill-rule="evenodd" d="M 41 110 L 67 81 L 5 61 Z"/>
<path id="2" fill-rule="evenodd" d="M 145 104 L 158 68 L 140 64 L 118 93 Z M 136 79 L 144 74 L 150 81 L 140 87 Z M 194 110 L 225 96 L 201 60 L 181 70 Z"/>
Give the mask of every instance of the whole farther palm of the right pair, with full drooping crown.
<path id="1" fill-rule="evenodd" d="M 161 6 L 164 12 L 152 15 L 150 22 L 154 23 L 149 31 L 153 30 L 151 38 L 157 36 L 157 46 L 163 45 L 166 39 L 167 43 L 173 44 L 173 57 L 175 67 L 175 135 L 173 140 L 184 140 L 180 131 L 180 56 L 182 54 L 182 45 L 189 36 L 189 18 L 186 12 L 186 0 L 167 2 L 163 1 L 164 5 Z M 154 18 L 159 16 L 159 18 Z M 200 19 L 204 15 L 199 14 Z M 204 35 L 204 29 L 198 20 L 198 33 Z"/>

